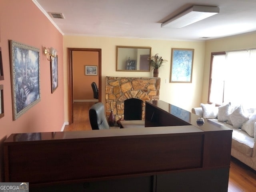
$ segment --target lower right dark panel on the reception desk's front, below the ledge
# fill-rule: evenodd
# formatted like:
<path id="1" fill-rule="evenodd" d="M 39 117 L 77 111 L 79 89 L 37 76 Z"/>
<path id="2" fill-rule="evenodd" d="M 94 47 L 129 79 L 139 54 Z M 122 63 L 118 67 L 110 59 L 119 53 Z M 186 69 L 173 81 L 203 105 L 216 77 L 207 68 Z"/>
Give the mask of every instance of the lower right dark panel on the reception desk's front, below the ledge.
<path id="1" fill-rule="evenodd" d="M 156 191 L 224 192 L 228 190 L 228 176 L 228 167 L 158 174 Z"/>

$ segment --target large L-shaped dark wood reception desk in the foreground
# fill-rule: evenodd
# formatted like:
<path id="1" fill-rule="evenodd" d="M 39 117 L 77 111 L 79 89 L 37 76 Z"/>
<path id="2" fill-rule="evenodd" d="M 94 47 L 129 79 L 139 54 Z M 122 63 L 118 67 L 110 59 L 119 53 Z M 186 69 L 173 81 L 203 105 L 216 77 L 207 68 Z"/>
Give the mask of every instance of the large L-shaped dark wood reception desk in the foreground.
<path id="1" fill-rule="evenodd" d="M 6 182 L 29 182 L 31 191 L 176 191 L 188 183 L 177 191 L 225 191 L 232 130 L 197 126 L 198 116 L 165 105 L 147 102 L 146 117 L 154 108 L 159 120 L 179 125 L 12 134 L 4 142 Z"/>

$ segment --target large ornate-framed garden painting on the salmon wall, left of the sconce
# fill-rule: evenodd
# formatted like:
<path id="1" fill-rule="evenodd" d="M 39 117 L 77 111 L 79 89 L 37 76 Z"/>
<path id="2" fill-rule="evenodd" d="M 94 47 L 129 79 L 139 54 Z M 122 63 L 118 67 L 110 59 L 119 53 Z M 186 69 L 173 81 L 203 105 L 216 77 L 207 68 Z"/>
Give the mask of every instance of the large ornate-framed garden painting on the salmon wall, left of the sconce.
<path id="1" fill-rule="evenodd" d="M 39 51 L 38 48 L 10 40 L 13 120 L 41 100 Z"/>

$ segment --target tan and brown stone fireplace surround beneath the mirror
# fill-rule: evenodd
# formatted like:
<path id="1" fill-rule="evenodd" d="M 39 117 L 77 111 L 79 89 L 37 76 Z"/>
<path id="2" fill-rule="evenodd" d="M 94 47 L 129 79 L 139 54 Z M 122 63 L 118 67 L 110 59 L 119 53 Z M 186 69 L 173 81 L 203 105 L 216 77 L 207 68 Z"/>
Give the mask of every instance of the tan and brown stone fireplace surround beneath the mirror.
<path id="1" fill-rule="evenodd" d="M 159 100 L 158 77 L 106 77 L 106 116 L 113 110 L 116 120 L 124 118 L 124 101 L 137 98 L 143 101 L 142 120 L 145 119 L 145 102 Z"/>

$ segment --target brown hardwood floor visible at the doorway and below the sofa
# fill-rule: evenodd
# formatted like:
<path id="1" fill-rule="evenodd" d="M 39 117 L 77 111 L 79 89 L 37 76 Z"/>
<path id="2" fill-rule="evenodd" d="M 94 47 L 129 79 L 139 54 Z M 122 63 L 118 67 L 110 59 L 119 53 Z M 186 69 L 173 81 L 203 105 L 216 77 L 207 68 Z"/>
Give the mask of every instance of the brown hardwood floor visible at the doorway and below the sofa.
<path id="1" fill-rule="evenodd" d="M 92 130 L 88 111 L 95 102 L 74 103 L 74 124 L 64 131 Z M 228 192 L 256 192 L 256 171 L 236 158 L 231 158 Z"/>

